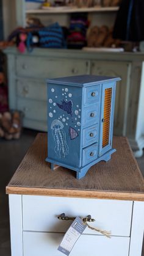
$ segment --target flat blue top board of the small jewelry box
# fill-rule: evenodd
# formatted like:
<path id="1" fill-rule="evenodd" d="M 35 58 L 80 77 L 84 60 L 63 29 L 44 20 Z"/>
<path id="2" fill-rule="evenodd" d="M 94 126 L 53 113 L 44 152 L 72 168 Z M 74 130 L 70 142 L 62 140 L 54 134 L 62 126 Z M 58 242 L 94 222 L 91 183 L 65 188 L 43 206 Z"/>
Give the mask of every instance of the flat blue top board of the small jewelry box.
<path id="1" fill-rule="evenodd" d="M 88 87 L 96 84 L 103 84 L 105 82 L 120 81 L 121 78 L 111 76 L 95 76 L 95 75 L 81 75 L 81 76 L 67 76 L 64 78 L 47 79 L 51 84 L 63 84 L 67 86 Z"/>

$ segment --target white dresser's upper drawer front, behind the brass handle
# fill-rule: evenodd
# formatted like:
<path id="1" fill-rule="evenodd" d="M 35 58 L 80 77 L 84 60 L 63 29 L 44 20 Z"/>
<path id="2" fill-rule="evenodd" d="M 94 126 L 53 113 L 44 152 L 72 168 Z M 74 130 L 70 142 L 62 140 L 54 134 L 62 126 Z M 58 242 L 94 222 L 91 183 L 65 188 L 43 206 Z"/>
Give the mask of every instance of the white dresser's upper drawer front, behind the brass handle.
<path id="1" fill-rule="evenodd" d="M 111 230 L 112 235 L 130 235 L 132 202 L 23 196 L 23 229 L 25 231 L 65 232 L 71 221 L 57 219 L 61 213 L 71 217 L 85 217 L 90 214 L 96 220 L 91 225 L 99 229 Z M 96 234 L 88 228 L 85 229 L 85 233 Z"/>

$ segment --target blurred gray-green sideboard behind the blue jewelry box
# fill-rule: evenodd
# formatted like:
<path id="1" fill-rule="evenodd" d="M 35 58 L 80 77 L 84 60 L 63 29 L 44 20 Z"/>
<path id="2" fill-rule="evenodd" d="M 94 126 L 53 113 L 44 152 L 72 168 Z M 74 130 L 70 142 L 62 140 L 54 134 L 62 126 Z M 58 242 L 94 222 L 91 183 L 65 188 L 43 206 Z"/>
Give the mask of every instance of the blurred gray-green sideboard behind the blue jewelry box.
<path id="1" fill-rule="evenodd" d="M 24 127 L 46 131 L 46 79 L 71 75 L 119 76 L 114 134 L 127 136 L 135 156 L 144 147 L 144 73 L 142 53 L 102 53 L 71 49 L 34 49 L 7 54 L 10 109 L 24 112 Z"/>

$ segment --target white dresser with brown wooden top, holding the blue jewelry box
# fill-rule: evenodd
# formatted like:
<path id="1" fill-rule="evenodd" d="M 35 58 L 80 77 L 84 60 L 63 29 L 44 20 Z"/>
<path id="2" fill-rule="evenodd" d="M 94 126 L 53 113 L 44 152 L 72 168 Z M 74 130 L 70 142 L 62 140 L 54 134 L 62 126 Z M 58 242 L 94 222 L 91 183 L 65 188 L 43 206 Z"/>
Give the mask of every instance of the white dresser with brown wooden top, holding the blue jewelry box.
<path id="1" fill-rule="evenodd" d="M 111 231 L 111 238 L 85 229 L 71 256 L 141 256 L 144 227 L 144 183 L 128 141 L 114 137 L 117 152 L 101 161 L 82 180 L 45 162 L 46 134 L 38 134 L 6 188 L 10 204 L 12 256 L 58 256 L 71 221 L 86 217 L 93 227 Z"/>

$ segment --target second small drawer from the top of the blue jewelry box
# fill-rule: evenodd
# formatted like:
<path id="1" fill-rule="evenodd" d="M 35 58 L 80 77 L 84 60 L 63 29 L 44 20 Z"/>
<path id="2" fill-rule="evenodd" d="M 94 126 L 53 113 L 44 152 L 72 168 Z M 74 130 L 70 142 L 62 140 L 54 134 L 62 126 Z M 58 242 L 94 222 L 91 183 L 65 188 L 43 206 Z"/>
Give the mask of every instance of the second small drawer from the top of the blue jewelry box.
<path id="1" fill-rule="evenodd" d="M 83 110 L 83 126 L 90 126 L 98 123 L 99 118 L 99 105 L 84 108 Z"/>

